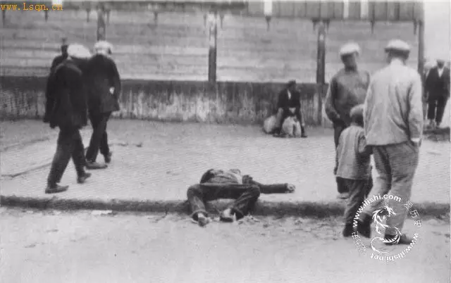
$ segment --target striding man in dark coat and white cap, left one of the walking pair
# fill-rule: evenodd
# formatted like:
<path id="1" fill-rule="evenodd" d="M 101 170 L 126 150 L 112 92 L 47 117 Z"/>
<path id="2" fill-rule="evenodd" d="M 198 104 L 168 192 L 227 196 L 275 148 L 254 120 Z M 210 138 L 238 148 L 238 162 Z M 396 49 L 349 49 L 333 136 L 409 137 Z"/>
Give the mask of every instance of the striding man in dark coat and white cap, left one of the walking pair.
<path id="1" fill-rule="evenodd" d="M 68 46 L 68 58 L 49 75 L 44 122 L 53 129 L 59 127 L 56 153 L 47 178 L 46 194 L 66 191 L 61 177 L 72 158 L 77 170 L 77 182 L 82 184 L 91 176 L 85 172 L 85 156 L 80 129 L 87 125 L 87 96 L 80 64 L 90 56 L 79 44 Z"/>

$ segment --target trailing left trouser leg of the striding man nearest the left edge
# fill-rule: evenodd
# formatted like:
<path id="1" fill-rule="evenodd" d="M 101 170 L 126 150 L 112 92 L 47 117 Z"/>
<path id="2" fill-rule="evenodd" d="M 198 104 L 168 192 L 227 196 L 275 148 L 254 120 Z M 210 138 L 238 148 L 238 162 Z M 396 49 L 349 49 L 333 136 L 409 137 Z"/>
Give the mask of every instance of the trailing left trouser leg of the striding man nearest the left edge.
<path id="1" fill-rule="evenodd" d="M 58 134 L 58 141 L 56 145 L 56 153 L 51 162 L 49 176 L 47 177 L 47 184 L 54 186 L 61 182 L 63 173 L 66 170 L 70 156 L 73 152 L 73 131 L 60 130 Z"/>

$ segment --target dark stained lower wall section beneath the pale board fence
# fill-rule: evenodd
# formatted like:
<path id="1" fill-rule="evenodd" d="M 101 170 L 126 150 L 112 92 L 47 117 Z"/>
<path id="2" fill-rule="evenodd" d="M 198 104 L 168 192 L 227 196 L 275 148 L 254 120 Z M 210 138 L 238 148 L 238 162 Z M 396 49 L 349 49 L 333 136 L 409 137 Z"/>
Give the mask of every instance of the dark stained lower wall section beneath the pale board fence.
<path id="1" fill-rule="evenodd" d="M 2 119 L 42 118 L 44 77 L 0 77 Z M 253 124 L 261 123 L 276 109 L 280 83 L 179 82 L 123 80 L 121 111 L 116 118 Z M 299 84 L 307 125 L 321 125 L 323 89 Z"/>

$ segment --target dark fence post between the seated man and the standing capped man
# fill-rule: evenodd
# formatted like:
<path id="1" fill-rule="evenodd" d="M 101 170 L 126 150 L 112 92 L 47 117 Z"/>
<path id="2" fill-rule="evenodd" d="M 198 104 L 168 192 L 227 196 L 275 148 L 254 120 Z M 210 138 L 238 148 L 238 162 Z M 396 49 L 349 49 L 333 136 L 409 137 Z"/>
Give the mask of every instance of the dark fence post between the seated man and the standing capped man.
<path id="1" fill-rule="evenodd" d="M 316 92 L 318 94 L 318 113 L 317 119 L 320 124 L 323 123 L 323 89 L 326 84 L 326 26 L 321 20 L 318 28 L 316 56 Z"/>

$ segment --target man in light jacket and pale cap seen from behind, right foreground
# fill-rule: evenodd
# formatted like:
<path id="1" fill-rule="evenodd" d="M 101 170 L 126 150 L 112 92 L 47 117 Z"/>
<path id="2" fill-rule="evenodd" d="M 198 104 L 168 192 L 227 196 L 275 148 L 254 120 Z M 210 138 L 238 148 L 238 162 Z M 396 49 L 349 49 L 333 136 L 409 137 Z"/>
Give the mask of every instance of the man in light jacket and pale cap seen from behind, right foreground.
<path id="1" fill-rule="evenodd" d="M 401 231 L 409 212 L 404 205 L 410 200 L 419 160 L 424 121 L 422 83 L 419 73 L 406 65 L 409 44 L 393 40 L 385 47 L 385 52 L 389 64 L 373 75 L 366 95 L 364 130 L 378 172 L 373 194 L 391 194 L 402 201 L 382 199 L 369 203 L 360 215 L 357 232 L 371 237 L 373 212 L 381 207 L 383 201 L 388 201 L 395 215 L 387 218 L 385 239 L 397 244 L 410 244 L 412 239 Z"/>

